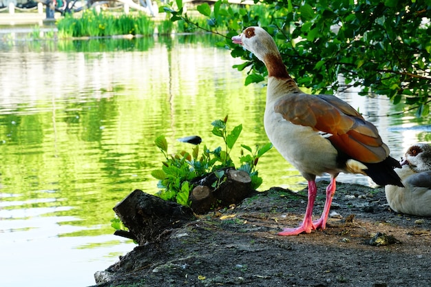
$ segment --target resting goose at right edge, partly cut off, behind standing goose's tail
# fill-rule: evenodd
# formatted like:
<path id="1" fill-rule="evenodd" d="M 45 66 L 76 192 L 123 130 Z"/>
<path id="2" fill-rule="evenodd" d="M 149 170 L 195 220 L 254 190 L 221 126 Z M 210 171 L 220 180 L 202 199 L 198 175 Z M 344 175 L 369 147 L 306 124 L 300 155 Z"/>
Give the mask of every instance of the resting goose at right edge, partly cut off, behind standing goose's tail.
<path id="1" fill-rule="evenodd" d="M 401 165 L 402 169 L 395 169 L 395 172 L 404 187 L 385 187 L 390 208 L 398 213 L 431 216 L 431 145 L 412 145 Z"/>

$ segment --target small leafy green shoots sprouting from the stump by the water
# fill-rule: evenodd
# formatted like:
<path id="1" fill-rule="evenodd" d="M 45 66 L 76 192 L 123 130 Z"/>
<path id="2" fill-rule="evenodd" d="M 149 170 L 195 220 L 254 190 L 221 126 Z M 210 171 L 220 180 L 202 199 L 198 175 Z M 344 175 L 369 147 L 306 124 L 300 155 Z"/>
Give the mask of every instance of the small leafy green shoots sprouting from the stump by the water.
<path id="1" fill-rule="evenodd" d="M 235 167 L 231 158 L 231 150 L 238 140 L 242 125 L 234 127 L 231 131 L 227 130 L 226 116 L 223 120 L 215 120 L 212 134 L 218 136 L 224 141 L 224 148 L 217 147 L 213 150 L 204 145 L 201 155 L 199 155 L 200 145 L 196 145 L 191 153 L 181 151 L 180 153 L 169 155 L 168 145 L 165 136 L 159 136 L 154 143 L 162 151 L 166 161 L 162 162 L 162 169 L 156 169 L 151 172 L 151 176 L 159 180 L 158 187 L 160 191 L 156 194 L 163 200 L 178 202 L 179 204 L 190 206 L 189 194 L 193 190 L 191 183 L 194 178 L 206 176 L 208 173 L 214 172 L 218 180 L 213 188 L 217 188 L 222 184 L 224 170 L 227 167 Z M 251 188 L 257 189 L 262 184 L 262 178 L 258 176 L 256 165 L 261 156 L 271 149 L 271 143 L 267 143 L 263 147 L 256 147 L 256 151 L 246 145 L 242 145 L 243 149 L 249 151 L 249 154 L 244 156 L 244 150 L 241 150 L 239 170 L 246 171 L 251 177 Z"/>

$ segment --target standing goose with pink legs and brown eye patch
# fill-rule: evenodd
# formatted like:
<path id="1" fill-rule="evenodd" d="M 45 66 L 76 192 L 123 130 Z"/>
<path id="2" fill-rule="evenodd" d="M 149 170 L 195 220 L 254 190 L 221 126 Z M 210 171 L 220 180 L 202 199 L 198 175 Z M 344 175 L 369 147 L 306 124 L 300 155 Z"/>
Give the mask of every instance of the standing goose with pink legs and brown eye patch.
<path id="1" fill-rule="evenodd" d="M 326 228 L 335 178 L 340 172 L 362 173 L 379 185 L 402 186 L 372 123 L 367 122 L 343 100 L 330 95 L 305 94 L 289 76 L 275 41 L 260 27 L 246 28 L 233 43 L 242 45 L 268 70 L 264 127 L 269 140 L 282 156 L 308 181 L 308 203 L 304 221 L 297 228 L 284 228 L 279 235 L 311 233 Z M 316 176 L 330 174 L 322 217 L 312 220 L 317 194 Z"/>

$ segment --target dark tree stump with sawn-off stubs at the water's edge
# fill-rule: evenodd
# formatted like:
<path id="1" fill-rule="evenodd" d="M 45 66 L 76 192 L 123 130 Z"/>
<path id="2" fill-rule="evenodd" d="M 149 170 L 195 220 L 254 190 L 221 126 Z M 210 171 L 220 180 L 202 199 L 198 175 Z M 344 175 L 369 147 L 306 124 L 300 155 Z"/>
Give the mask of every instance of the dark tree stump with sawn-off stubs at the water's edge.
<path id="1" fill-rule="evenodd" d="M 189 195 L 190 208 L 136 189 L 114 207 L 115 213 L 129 228 L 128 232 L 116 231 L 115 234 L 132 238 L 139 245 L 144 245 L 160 239 L 163 232 L 180 228 L 196 219 L 193 213 L 202 214 L 211 209 L 238 204 L 244 198 L 255 194 L 256 191 L 251 189 L 251 178 L 246 171 L 233 168 L 223 171 L 224 173 L 218 173 L 220 178 L 215 176 L 215 173 L 209 173 L 208 176 L 192 182 L 200 185 Z"/>

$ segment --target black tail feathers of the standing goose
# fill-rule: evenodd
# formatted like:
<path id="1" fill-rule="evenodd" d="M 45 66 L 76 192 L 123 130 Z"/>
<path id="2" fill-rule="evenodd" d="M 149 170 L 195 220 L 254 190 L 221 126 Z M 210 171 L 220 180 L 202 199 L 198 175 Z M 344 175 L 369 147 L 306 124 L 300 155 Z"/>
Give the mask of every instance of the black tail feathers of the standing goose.
<path id="1" fill-rule="evenodd" d="M 386 160 L 377 163 L 364 163 L 368 169 L 364 170 L 367 176 L 369 176 L 372 181 L 379 185 L 397 185 L 398 187 L 404 187 L 401 179 L 394 171 L 395 167 L 401 169 L 401 164 L 395 158 L 388 156 Z"/>

